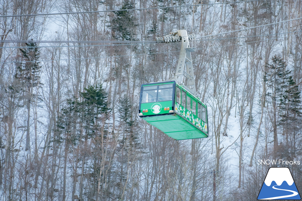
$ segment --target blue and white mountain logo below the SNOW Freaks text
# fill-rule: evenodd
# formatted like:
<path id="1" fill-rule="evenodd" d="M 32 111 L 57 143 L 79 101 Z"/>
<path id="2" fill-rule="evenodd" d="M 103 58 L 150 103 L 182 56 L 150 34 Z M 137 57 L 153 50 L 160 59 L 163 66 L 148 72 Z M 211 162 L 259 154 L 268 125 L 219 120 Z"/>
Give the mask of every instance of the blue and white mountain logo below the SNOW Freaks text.
<path id="1" fill-rule="evenodd" d="M 289 168 L 269 168 L 257 199 L 300 200 Z"/>

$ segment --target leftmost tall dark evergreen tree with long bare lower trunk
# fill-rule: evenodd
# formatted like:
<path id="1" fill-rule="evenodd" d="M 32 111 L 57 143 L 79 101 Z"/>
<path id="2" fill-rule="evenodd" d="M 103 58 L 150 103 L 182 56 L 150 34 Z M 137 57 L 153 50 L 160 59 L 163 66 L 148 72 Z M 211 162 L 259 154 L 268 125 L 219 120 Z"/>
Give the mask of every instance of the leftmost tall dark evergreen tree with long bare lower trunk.
<path id="1" fill-rule="evenodd" d="M 24 103 L 27 108 L 27 128 L 26 128 L 26 145 L 25 150 L 29 149 L 29 129 L 30 129 L 30 106 L 34 102 L 35 94 L 34 88 L 39 88 L 40 83 L 40 51 L 37 43 L 25 43 L 26 48 L 20 49 L 22 62 L 17 65 L 15 78 L 20 83 L 20 91 L 23 92 Z"/>

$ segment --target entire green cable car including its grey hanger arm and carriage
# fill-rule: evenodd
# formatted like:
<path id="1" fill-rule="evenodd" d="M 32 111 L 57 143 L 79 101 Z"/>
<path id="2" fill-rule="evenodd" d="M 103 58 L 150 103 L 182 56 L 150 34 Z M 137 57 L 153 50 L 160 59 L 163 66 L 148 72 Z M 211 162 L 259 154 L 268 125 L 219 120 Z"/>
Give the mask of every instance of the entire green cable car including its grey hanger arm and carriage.
<path id="1" fill-rule="evenodd" d="M 139 116 L 175 140 L 208 136 L 207 106 L 196 94 L 189 40 L 186 30 L 171 32 L 158 42 L 181 41 L 174 78 L 141 85 Z M 185 71 L 186 67 L 186 71 Z M 185 83 L 187 85 L 185 85 Z"/>

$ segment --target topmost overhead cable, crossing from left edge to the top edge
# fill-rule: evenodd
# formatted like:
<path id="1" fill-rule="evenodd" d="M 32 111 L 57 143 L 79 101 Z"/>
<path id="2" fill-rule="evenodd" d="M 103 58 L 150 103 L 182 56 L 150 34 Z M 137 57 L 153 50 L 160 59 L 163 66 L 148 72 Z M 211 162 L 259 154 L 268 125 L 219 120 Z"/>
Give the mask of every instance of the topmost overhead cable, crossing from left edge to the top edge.
<path id="1" fill-rule="evenodd" d="M 2 15 L 0 18 L 7 17 L 22 17 L 22 16 L 44 16 L 44 15 L 63 15 L 63 14 L 82 14 L 82 13 L 101 13 L 101 12 L 116 12 L 116 11 L 135 11 L 135 10 L 148 10 L 148 9 L 163 9 L 163 8 L 178 8 L 178 7 L 188 7 L 188 6 L 200 6 L 200 5 L 218 5 L 218 4 L 230 4 L 230 3 L 242 3 L 242 2 L 255 2 L 260 0 L 247 0 L 239 2 L 221 2 L 221 3 L 211 3 L 211 4 L 196 4 L 196 5 L 179 5 L 179 6 L 164 6 L 155 8 L 132 8 L 132 9 L 122 9 L 122 10 L 108 10 L 108 11 L 83 11 L 83 12 L 69 12 L 69 13 L 47 13 L 47 14 L 25 14 L 25 15 Z"/>

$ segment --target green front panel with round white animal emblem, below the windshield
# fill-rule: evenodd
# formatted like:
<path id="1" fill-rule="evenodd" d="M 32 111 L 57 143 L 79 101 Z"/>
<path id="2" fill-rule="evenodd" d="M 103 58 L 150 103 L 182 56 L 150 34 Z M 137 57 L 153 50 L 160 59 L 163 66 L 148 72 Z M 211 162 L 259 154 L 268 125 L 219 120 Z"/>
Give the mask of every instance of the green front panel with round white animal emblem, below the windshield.
<path id="1" fill-rule="evenodd" d="M 142 103 L 140 105 L 140 112 L 147 109 L 148 112 L 144 112 L 144 116 L 153 114 L 167 114 L 169 113 L 169 110 L 164 110 L 165 107 L 170 107 L 170 110 L 172 110 L 172 101 Z"/>

